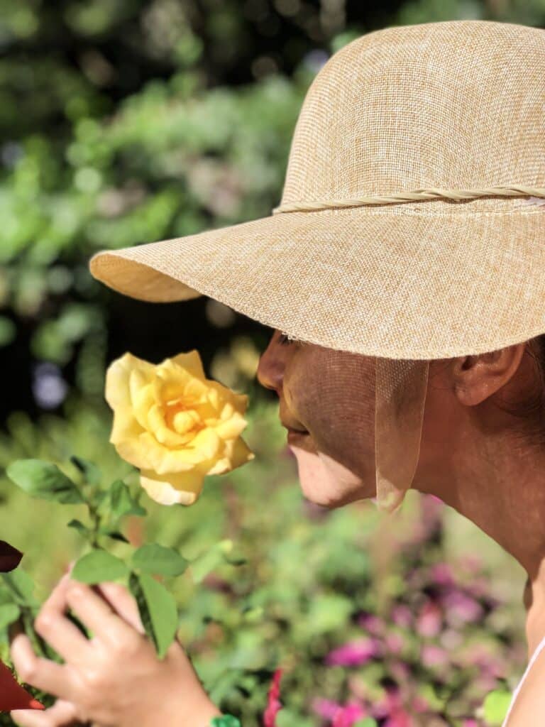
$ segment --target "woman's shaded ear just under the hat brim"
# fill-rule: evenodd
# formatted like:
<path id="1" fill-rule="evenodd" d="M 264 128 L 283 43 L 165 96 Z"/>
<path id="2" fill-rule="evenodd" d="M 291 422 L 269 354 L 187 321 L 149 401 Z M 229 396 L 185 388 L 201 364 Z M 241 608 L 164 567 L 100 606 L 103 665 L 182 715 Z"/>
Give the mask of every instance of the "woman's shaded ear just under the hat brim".
<path id="1" fill-rule="evenodd" d="M 476 406 L 506 385 L 517 371 L 526 342 L 453 361 L 454 393 L 460 403 Z"/>

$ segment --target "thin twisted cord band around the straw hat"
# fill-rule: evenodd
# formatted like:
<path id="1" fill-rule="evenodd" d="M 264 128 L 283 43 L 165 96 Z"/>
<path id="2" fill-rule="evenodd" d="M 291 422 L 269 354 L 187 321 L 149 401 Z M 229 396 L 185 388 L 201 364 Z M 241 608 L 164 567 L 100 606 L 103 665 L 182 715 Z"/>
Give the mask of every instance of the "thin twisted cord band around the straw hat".
<path id="1" fill-rule="evenodd" d="M 545 187 L 528 187 L 525 185 L 506 185 L 483 189 L 441 189 L 429 187 L 399 192 L 386 196 L 359 197 L 357 199 L 332 199 L 329 201 L 293 202 L 280 204 L 273 209 L 273 214 L 281 212 L 315 212 L 319 209 L 342 209 L 358 207 L 366 204 L 398 204 L 400 202 L 418 202 L 427 199 L 451 199 L 453 201 L 471 201 L 481 197 L 535 197 L 543 198 L 545 204 Z"/>

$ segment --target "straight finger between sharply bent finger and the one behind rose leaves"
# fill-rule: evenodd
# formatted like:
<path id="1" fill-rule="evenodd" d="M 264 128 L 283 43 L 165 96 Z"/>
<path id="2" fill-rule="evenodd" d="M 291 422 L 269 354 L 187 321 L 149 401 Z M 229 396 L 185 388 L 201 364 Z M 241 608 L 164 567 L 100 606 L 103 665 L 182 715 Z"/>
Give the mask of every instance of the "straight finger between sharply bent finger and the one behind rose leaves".
<path id="1" fill-rule="evenodd" d="M 102 642 L 117 647 L 134 643 L 135 637 L 140 640 L 140 634 L 84 583 L 70 581 L 66 601 L 78 619 Z"/>

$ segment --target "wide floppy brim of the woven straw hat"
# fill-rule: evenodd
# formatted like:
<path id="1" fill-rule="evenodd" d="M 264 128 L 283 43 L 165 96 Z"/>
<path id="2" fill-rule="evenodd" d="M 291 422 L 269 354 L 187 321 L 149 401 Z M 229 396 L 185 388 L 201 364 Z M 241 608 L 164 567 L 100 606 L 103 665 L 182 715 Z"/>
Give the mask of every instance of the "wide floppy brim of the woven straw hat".
<path id="1" fill-rule="evenodd" d="M 310 342 L 432 359 L 545 331 L 545 208 L 288 212 L 103 250 L 92 276 L 137 300 L 203 294 Z"/>

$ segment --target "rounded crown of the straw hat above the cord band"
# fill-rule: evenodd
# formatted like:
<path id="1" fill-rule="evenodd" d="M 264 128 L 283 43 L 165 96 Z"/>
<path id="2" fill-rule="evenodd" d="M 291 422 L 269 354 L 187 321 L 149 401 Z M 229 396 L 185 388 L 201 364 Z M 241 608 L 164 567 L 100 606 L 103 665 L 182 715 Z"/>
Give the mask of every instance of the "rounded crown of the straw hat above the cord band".
<path id="1" fill-rule="evenodd" d="M 312 81 L 281 204 L 430 187 L 544 186 L 544 120 L 545 31 L 488 20 L 374 31 L 336 52 Z"/>

